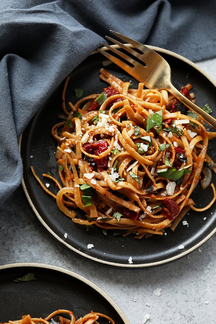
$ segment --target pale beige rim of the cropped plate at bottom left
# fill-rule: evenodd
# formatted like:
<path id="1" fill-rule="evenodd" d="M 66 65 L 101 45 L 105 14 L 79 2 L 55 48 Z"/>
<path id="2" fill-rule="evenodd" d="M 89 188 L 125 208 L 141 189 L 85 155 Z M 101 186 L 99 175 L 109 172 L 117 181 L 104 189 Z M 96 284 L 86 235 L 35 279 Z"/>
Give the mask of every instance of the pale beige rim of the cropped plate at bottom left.
<path id="1" fill-rule="evenodd" d="M 115 311 L 118 313 L 118 315 L 121 317 L 123 320 L 124 324 L 131 324 L 122 311 L 122 309 L 118 306 L 118 304 L 106 293 L 102 288 L 100 288 L 97 284 L 93 283 L 91 280 L 85 278 L 81 274 L 78 274 L 77 272 L 74 272 L 72 270 L 68 270 L 66 268 L 52 265 L 52 264 L 47 264 L 47 263 L 40 263 L 40 262 L 16 262 L 16 263 L 6 263 L 3 265 L 0 265 L 0 272 L 1 270 L 5 269 L 12 269 L 12 268 L 27 268 L 27 267 L 35 267 L 35 268 L 40 268 L 40 269 L 46 269 L 46 270 L 52 270 L 52 271 L 57 271 L 60 273 L 64 273 L 69 275 L 72 278 L 75 278 L 79 281 L 82 281 L 84 284 L 87 284 L 91 288 L 93 288 L 97 293 L 99 293 L 102 297 L 106 299 L 106 301 L 115 309 Z"/>

